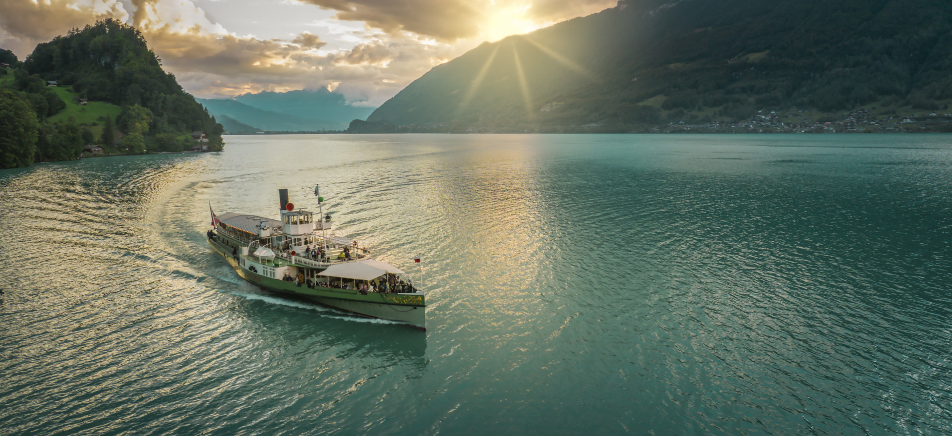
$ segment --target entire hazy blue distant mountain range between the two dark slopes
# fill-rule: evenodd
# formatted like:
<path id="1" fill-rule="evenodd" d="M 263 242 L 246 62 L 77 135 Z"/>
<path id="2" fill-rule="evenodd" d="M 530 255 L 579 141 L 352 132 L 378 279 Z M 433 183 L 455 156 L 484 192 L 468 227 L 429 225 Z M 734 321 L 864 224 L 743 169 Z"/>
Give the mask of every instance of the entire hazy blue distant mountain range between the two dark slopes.
<path id="1" fill-rule="evenodd" d="M 374 109 L 348 105 L 343 95 L 324 88 L 197 100 L 222 121 L 229 133 L 347 129 L 350 121 L 365 119 Z"/>

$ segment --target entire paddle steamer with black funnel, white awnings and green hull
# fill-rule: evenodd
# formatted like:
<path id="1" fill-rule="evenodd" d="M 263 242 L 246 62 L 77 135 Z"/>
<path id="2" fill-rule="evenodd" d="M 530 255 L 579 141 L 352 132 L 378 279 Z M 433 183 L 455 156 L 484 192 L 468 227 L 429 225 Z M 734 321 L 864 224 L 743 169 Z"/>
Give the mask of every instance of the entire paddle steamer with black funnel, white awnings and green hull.
<path id="1" fill-rule="evenodd" d="M 278 190 L 281 219 L 211 211 L 208 245 L 248 282 L 329 307 L 426 329 L 422 290 L 404 271 L 374 260 L 356 242 L 327 235 L 330 216 L 294 208 Z M 315 195 L 318 194 L 315 188 Z M 323 203 L 318 195 L 318 205 Z"/>

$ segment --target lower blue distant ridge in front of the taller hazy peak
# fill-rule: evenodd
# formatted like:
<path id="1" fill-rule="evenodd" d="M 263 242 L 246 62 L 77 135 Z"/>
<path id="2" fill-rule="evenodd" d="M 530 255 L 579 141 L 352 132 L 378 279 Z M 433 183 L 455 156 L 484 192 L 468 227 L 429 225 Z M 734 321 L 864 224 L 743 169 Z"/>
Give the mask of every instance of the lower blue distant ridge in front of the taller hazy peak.
<path id="1" fill-rule="evenodd" d="M 337 123 L 308 120 L 270 110 L 252 108 L 235 100 L 198 98 L 215 117 L 228 117 L 239 123 L 271 131 L 315 131 L 339 128 Z"/>

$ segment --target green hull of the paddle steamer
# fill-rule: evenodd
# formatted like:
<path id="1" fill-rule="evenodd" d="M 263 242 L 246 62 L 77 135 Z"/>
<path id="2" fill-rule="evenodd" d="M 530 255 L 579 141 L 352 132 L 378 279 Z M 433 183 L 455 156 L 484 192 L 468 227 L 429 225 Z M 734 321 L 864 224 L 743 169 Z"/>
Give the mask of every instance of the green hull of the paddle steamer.
<path id="1" fill-rule="evenodd" d="M 228 265 L 234 268 L 241 278 L 253 285 L 274 292 L 305 297 L 310 301 L 328 307 L 335 307 L 373 318 L 403 322 L 426 329 L 426 302 L 423 295 L 378 292 L 361 294 L 357 290 L 350 289 L 295 286 L 293 282 L 270 278 L 242 268 L 238 259 L 240 254 L 232 255 L 231 248 L 220 242 L 208 239 L 208 245 L 224 257 L 228 261 Z"/>

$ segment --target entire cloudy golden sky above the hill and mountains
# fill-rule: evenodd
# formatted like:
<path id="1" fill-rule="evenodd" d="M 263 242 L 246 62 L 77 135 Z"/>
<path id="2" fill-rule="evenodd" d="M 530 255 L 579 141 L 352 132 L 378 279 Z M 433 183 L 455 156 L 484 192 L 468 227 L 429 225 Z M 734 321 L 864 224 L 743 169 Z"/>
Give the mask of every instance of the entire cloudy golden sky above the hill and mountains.
<path id="1" fill-rule="evenodd" d="M 0 48 L 21 60 L 113 17 L 143 31 L 198 97 L 329 87 L 378 106 L 483 41 L 610 8 L 615 0 L 0 0 Z"/>

